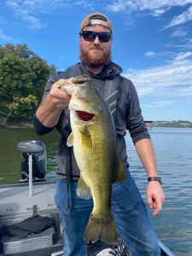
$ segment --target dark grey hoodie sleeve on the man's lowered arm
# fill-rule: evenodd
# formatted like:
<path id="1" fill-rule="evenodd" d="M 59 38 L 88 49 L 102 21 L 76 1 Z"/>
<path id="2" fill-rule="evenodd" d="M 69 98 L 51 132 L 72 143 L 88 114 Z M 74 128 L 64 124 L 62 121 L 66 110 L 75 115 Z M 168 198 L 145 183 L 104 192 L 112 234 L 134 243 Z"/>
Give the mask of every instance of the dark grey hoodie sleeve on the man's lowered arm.
<path id="1" fill-rule="evenodd" d="M 130 86 L 127 111 L 126 129 L 129 130 L 133 143 L 135 144 L 145 138 L 150 139 L 140 108 L 137 91 L 132 83 Z"/>

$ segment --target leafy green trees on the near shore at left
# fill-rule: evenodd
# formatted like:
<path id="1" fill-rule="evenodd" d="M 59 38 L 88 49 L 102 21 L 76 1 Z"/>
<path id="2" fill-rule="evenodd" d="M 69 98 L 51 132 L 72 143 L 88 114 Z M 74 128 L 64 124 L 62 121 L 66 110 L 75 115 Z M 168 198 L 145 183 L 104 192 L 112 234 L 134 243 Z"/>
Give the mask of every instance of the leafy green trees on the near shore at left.
<path id="1" fill-rule="evenodd" d="M 0 125 L 32 118 L 55 70 L 26 44 L 0 44 Z"/>

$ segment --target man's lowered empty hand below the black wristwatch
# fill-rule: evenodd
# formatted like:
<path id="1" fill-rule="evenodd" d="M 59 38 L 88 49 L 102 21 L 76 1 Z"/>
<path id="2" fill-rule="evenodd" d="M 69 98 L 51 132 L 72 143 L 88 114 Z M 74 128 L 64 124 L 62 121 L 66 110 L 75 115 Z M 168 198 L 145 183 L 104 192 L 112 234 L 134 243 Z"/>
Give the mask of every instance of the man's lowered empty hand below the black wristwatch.
<path id="1" fill-rule="evenodd" d="M 165 195 L 163 193 L 163 189 L 161 188 L 160 183 L 157 181 L 150 181 L 148 183 L 146 195 L 148 207 L 156 208 L 156 210 L 153 212 L 153 215 L 160 212 L 163 205 L 163 201 L 165 200 Z"/>

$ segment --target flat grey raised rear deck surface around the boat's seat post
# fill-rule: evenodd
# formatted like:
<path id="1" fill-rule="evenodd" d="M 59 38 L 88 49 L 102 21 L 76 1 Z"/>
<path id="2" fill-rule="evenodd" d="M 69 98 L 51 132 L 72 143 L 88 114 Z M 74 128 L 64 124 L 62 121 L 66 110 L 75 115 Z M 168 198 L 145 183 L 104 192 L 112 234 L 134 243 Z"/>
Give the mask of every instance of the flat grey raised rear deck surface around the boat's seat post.
<path id="1" fill-rule="evenodd" d="M 26 218 L 32 216 L 34 205 L 38 213 L 58 212 L 55 207 L 55 182 L 33 183 L 33 195 L 29 196 L 29 185 L 19 183 L 0 186 L 0 227 L 6 219 Z"/>

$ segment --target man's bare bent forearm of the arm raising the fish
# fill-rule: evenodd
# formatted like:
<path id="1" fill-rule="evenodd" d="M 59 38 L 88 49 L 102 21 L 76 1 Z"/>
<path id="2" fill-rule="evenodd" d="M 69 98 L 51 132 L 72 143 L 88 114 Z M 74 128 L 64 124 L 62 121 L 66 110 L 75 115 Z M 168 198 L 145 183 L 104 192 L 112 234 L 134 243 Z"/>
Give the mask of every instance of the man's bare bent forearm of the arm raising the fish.
<path id="1" fill-rule="evenodd" d="M 44 126 L 54 127 L 58 123 L 61 112 L 62 109 L 56 108 L 55 104 L 51 101 L 50 95 L 48 95 L 38 108 L 36 116 Z"/>

